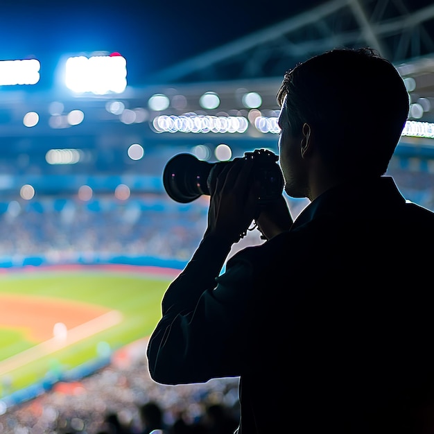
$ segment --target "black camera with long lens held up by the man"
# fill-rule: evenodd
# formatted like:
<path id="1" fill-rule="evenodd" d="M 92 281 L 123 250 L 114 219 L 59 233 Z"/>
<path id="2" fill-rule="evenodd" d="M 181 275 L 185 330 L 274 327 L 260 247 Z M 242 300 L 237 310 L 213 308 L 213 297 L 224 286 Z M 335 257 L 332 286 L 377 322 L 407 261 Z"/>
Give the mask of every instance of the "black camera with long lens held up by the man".
<path id="1" fill-rule="evenodd" d="M 277 164 L 279 157 L 266 149 L 255 149 L 244 157 L 254 159 L 253 180 L 258 180 L 260 191 L 259 204 L 266 204 L 281 196 L 284 178 Z M 218 173 L 231 161 L 209 163 L 192 154 L 182 153 L 172 157 L 164 167 L 163 184 L 166 193 L 176 202 L 192 202 L 202 195 L 211 196 L 210 186 Z"/>

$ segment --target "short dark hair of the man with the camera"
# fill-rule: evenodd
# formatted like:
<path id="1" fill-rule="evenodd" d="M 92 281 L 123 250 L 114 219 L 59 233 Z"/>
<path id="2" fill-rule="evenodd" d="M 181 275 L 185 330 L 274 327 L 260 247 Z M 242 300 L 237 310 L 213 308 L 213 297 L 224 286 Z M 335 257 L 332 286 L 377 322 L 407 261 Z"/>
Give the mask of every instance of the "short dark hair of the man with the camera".
<path id="1" fill-rule="evenodd" d="M 294 134 L 316 132 L 322 159 L 340 175 L 383 175 L 409 110 L 397 69 L 374 49 L 333 49 L 287 71 L 277 93 Z M 376 110 L 376 104 L 381 104 Z"/>

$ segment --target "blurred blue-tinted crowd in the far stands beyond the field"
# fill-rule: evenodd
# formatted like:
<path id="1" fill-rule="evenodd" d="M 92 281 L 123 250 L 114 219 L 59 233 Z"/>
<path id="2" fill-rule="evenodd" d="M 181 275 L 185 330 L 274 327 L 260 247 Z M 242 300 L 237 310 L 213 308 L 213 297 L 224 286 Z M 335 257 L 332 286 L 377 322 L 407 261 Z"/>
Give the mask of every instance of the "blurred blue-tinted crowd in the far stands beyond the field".
<path id="1" fill-rule="evenodd" d="M 3 202 L 0 258 L 44 255 L 53 263 L 73 262 L 78 255 L 189 259 L 206 216 L 202 200 L 178 204 L 165 196 Z"/>

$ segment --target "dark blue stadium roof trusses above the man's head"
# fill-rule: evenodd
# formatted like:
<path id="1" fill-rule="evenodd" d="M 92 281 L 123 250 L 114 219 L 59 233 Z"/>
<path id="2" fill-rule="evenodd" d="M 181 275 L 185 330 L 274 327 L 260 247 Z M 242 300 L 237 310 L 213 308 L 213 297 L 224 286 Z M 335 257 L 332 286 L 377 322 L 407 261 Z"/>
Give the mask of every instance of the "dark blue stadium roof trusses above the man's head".
<path id="1" fill-rule="evenodd" d="M 280 78 L 297 62 L 340 46 L 371 46 L 395 65 L 410 62 L 416 73 L 418 60 L 434 55 L 434 4 L 329 0 L 150 78 L 159 83 Z"/>

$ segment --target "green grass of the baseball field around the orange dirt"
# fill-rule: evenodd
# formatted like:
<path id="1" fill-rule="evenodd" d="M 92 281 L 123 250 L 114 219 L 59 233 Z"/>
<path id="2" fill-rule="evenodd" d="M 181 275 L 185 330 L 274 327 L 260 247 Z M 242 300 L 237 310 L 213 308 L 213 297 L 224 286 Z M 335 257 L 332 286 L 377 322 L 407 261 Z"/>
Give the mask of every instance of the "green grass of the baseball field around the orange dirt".
<path id="1" fill-rule="evenodd" d="M 100 355 L 101 347 L 110 346 L 115 350 L 148 337 L 160 318 L 162 296 L 173 278 L 173 272 L 171 275 L 148 274 L 146 268 L 141 267 L 42 269 L 0 274 L 0 296 L 28 295 L 85 302 L 119 311 L 123 318 L 113 327 L 3 373 L 0 397 L 26 388 L 49 373 L 65 372 L 87 363 Z M 29 341 L 19 328 L 0 326 L 0 364 L 38 343 Z"/>

